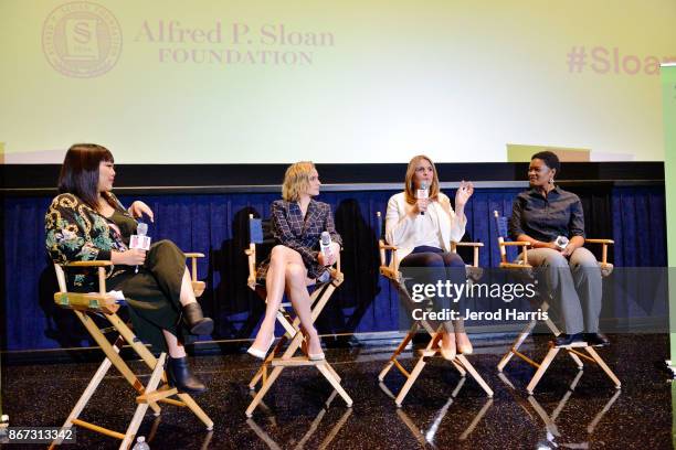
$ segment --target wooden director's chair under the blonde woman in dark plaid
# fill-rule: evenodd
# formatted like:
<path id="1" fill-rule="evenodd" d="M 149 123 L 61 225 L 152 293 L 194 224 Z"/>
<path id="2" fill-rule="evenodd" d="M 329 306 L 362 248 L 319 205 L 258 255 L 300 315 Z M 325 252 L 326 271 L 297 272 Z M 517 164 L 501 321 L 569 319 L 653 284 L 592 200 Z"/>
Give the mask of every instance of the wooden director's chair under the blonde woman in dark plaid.
<path id="1" fill-rule="evenodd" d="M 258 283 L 256 280 L 256 244 L 265 243 L 263 236 L 263 221 L 260 218 L 254 218 L 253 214 L 249 215 L 249 248 L 244 251 L 249 257 L 247 285 L 262 299 L 265 299 L 265 286 Z M 315 285 L 315 290 L 310 294 L 313 322 L 317 320 L 331 294 L 336 288 L 342 283 L 342 281 L 344 275 L 340 271 L 340 255 L 338 255 L 336 266 L 330 270 L 329 280 L 324 283 L 318 282 Z M 254 390 L 258 382 L 262 382 L 261 388 L 246 408 L 246 417 L 252 417 L 253 411 L 256 409 L 267 390 L 277 381 L 277 377 L 284 367 L 315 366 L 331 384 L 334 389 L 338 392 L 347 406 L 352 406 L 352 399 L 340 385 L 340 376 L 338 376 L 334 367 L 331 367 L 326 360 L 310 361 L 307 353 L 305 353 L 305 351 L 302 349 L 304 336 L 300 332 L 300 320 L 298 318 L 294 318 L 292 312 L 293 309 L 291 308 L 291 303 L 279 304 L 277 321 L 282 324 L 282 326 L 284 326 L 285 332 L 277 344 L 270 352 L 265 361 L 263 361 L 261 368 L 258 368 L 254 377 L 249 383 L 249 388 Z M 283 352 L 283 347 L 286 342 L 289 342 L 289 344 Z M 296 356 L 296 352 L 298 352 L 298 350 L 300 350 L 304 354 Z"/>

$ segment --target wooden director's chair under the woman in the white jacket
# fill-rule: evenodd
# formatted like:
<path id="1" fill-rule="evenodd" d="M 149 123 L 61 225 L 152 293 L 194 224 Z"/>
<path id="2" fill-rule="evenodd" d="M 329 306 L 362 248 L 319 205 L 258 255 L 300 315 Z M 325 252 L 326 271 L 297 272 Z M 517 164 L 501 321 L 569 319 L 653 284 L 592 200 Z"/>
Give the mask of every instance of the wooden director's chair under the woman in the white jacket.
<path id="1" fill-rule="evenodd" d="M 380 214 L 380 212 L 377 213 L 377 222 L 378 222 L 378 229 L 382 231 L 382 215 Z M 478 268 L 478 249 L 479 247 L 483 247 L 484 244 L 482 243 L 452 243 L 453 251 L 455 251 L 455 249 L 458 246 L 473 247 L 474 260 L 473 260 L 472 266 L 467 267 L 467 274 L 469 276 L 469 279 L 475 279 L 475 280 L 478 279 L 480 277 L 480 269 Z M 403 275 L 399 271 L 400 261 L 397 258 L 397 247 L 393 245 L 387 245 L 382 236 L 379 239 L 379 247 L 380 247 L 380 274 L 382 274 L 385 278 L 388 278 L 394 285 L 399 293 L 404 296 L 404 298 L 408 299 L 408 301 L 404 300 L 400 302 L 400 304 L 405 304 L 406 307 L 410 307 L 412 309 L 413 300 L 411 300 L 409 291 L 404 285 Z M 388 253 L 390 254 L 389 265 L 387 264 Z M 383 369 L 378 375 L 378 379 L 380 382 L 383 382 L 387 374 L 390 372 L 392 366 L 394 366 L 406 378 L 406 382 L 404 383 L 403 387 L 399 392 L 399 395 L 397 395 L 397 397 L 394 398 L 394 403 L 397 404 L 398 407 L 401 407 L 401 404 L 403 403 L 404 398 L 409 394 L 409 390 L 411 389 L 413 384 L 415 384 L 415 381 L 420 376 L 422 369 L 425 367 L 425 364 L 427 364 L 429 360 L 433 356 L 441 355 L 442 326 L 443 325 L 440 325 L 437 329 L 434 329 L 430 324 L 430 322 L 426 320 L 413 321 L 413 324 L 411 325 L 408 334 L 401 341 L 401 343 L 399 344 L 399 346 L 397 347 L 392 356 L 390 356 L 390 360 L 388 361 Z M 420 351 L 421 356 L 418 358 L 418 362 L 413 366 L 413 369 L 409 372 L 404 368 L 404 366 L 399 362 L 398 358 L 401 355 L 401 353 L 404 351 L 406 345 L 409 345 L 409 342 L 411 342 L 413 336 L 415 336 L 415 334 L 418 333 L 420 329 L 423 329 L 427 334 L 430 334 L 431 340 L 427 346 L 424 350 Z M 488 397 L 493 397 L 493 389 L 490 389 L 490 387 L 484 381 L 484 378 L 482 378 L 482 376 L 476 372 L 476 369 L 474 368 L 472 363 L 469 363 L 469 361 L 467 360 L 465 355 L 461 353 L 456 354 L 455 358 L 452 361 L 452 364 L 457 369 L 457 372 L 460 372 L 461 376 L 465 376 L 467 373 L 469 373 L 469 375 L 472 375 L 472 377 L 476 381 L 476 383 L 478 383 L 479 386 L 486 392 Z"/>

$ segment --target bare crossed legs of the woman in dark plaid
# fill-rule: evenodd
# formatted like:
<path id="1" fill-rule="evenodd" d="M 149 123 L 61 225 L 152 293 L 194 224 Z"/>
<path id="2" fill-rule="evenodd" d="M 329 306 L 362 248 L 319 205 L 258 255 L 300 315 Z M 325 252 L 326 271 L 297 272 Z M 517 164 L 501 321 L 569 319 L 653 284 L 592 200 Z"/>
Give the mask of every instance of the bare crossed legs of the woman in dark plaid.
<path id="1" fill-rule="evenodd" d="M 321 354 L 321 342 L 313 324 L 310 297 L 307 291 L 307 287 L 314 282 L 315 280 L 307 278 L 307 269 L 298 251 L 283 245 L 273 248 L 265 277 L 267 291 L 265 317 L 252 349 L 262 352 L 270 349 L 274 338 L 277 310 L 286 291 L 307 338 L 308 353 L 310 355 Z"/>

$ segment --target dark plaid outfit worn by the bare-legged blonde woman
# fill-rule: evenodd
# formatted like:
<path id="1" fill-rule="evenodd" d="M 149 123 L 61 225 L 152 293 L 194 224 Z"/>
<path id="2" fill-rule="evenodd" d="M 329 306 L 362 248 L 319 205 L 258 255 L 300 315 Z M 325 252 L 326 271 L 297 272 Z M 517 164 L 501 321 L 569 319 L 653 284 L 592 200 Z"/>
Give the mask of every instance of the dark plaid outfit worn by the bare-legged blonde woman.
<path id="1" fill-rule="evenodd" d="M 277 244 L 282 244 L 300 254 L 307 268 L 307 276 L 318 278 L 326 268 L 317 262 L 319 237 L 323 232 L 331 235 L 331 240 L 342 245 L 336 233 L 331 207 L 327 203 L 310 200 L 305 217 L 297 202 L 277 200 L 272 204 L 272 232 Z M 264 279 L 267 274 L 270 257 L 258 266 L 256 277 Z"/>

